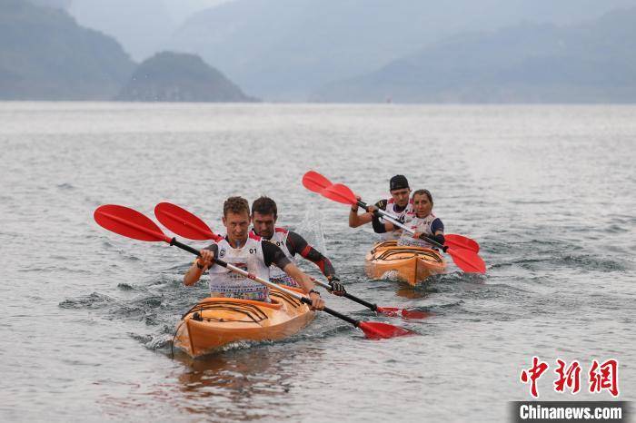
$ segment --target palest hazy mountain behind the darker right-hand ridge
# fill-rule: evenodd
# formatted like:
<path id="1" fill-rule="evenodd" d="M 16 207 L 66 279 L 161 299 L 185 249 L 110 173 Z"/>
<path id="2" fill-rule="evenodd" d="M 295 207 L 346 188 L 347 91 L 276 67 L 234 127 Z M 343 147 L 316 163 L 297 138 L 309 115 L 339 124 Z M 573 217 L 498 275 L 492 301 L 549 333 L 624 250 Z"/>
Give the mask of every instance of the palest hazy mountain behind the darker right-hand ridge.
<path id="1" fill-rule="evenodd" d="M 617 5 L 636 0 L 235 0 L 192 16 L 167 48 L 201 55 L 250 93 L 302 101 L 452 34 L 571 24 Z"/>

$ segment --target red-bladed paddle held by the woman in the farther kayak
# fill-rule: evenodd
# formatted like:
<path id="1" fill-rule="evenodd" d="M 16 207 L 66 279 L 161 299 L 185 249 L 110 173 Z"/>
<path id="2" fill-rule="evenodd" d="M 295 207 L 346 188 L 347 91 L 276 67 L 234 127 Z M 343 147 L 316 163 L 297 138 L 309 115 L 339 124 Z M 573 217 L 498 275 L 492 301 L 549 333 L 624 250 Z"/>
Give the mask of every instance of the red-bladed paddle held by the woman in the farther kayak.
<path id="1" fill-rule="evenodd" d="M 365 202 L 357 200 L 355 198 L 355 194 L 349 189 L 349 187 L 347 187 L 346 185 L 343 185 L 342 183 L 335 183 L 332 186 L 329 186 L 323 189 L 321 193 L 323 194 L 324 197 L 327 197 L 328 199 L 331 199 L 334 202 L 342 202 L 343 204 L 350 204 L 350 205 L 357 204 L 358 206 L 362 207 L 364 210 L 366 210 L 367 208 L 367 204 Z M 383 212 L 383 210 L 380 210 L 380 212 Z M 382 214 L 384 216 L 384 219 L 392 222 L 393 225 L 397 226 L 398 228 L 402 228 L 403 231 L 407 231 L 409 233 L 415 233 L 408 226 L 405 226 L 399 221 L 396 221 L 393 218 L 391 218 L 390 215 L 387 216 L 387 214 L 389 213 L 383 212 Z M 435 240 L 432 240 L 429 237 L 421 237 L 421 238 L 422 240 L 425 240 L 431 243 L 432 245 L 434 245 L 435 247 L 442 249 L 442 251 L 450 254 L 452 257 L 452 261 L 454 261 L 455 264 L 460 269 L 462 269 L 462 271 L 466 271 L 469 273 L 471 272 L 485 273 L 486 272 L 486 263 L 483 262 L 482 258 L 476 252 L 471 250 L 464 250 L 462 248 L 451 249 L 450 247 L 444 246 L 441 243 Z"/>

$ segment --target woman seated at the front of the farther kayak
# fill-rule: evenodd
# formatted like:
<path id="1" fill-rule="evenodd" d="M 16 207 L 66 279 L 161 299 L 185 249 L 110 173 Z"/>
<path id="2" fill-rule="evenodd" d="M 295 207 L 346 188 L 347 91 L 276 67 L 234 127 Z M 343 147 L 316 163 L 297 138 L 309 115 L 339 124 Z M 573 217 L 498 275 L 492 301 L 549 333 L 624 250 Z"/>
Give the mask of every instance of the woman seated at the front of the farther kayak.
<path id="1" fill-rule="evenodd" d="M 434 241 L 443 245 L 444 243 L 444 224 L 442 220 L 436 217 L 432 213 L 432 195 L 428 190 L 417 190 L 412 195 L 412 207 L 414 215 L 407 221 L 404 221 L 404 225 L 414 231 L 414 234 L 410 234 L 402 231 L 400 239 L 397 241 L 398 245 L 409 245 L 414 247 L 432 248 L 427 241 L 424 241 L 420 236 L 429 237 Z M 373 224 L 382 225 L 381 231 L 393 231 L 394 226 L 391 222 L 380 222 L 378 216 L 373 215 Z"/>

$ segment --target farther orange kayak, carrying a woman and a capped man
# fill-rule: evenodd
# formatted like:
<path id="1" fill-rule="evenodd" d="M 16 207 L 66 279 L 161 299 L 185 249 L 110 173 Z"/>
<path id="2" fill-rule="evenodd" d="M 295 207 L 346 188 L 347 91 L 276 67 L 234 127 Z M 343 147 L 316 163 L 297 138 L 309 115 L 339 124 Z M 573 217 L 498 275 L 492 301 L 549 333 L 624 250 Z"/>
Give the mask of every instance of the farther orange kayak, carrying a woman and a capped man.
<path id="1" fill-rule="evenodd" d="M 398 246 L 397 241 L 392 240 L 373 245 L 373 249 L 366 255 L 364 270 L 373 279 L 397 278 L 415 285 L 431 275 L 445 271 L 446 261 L 438 251 Z"/>

